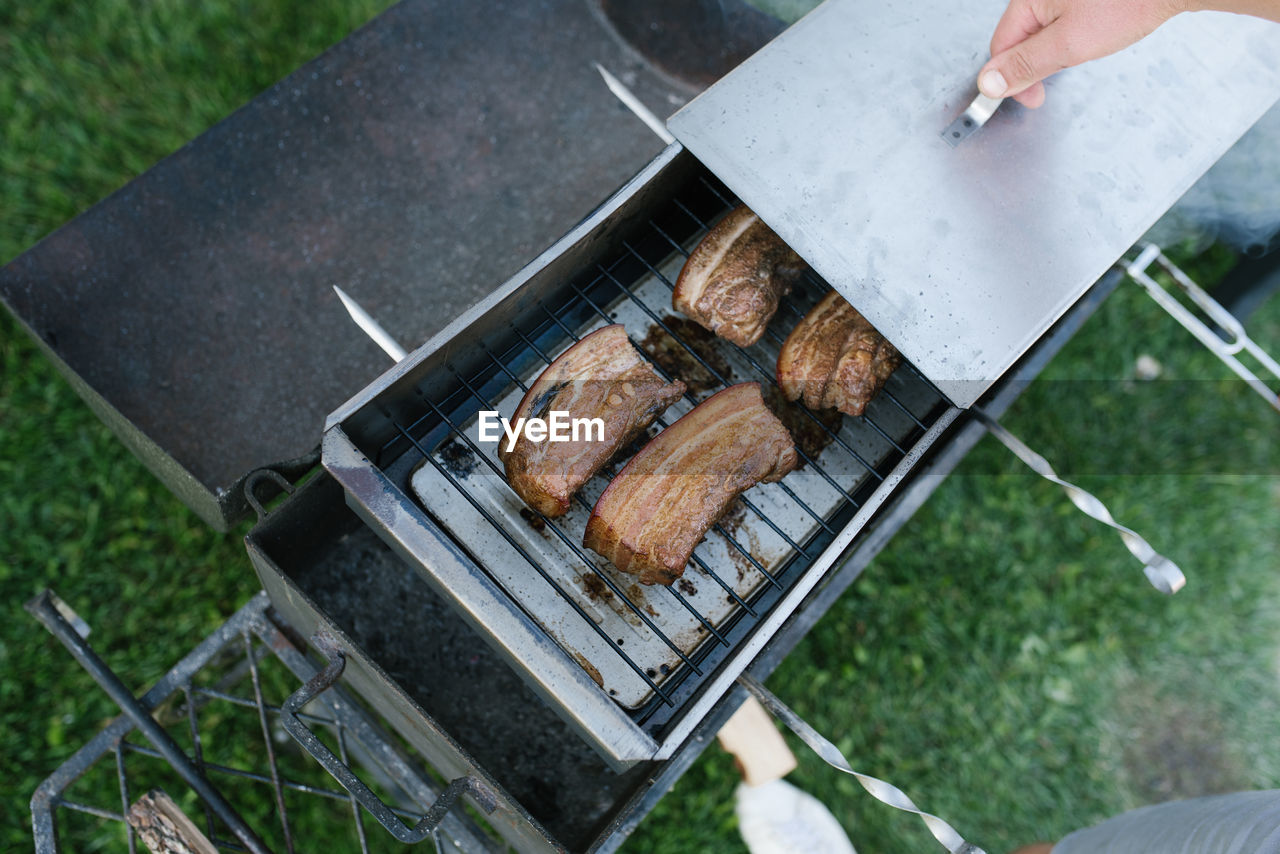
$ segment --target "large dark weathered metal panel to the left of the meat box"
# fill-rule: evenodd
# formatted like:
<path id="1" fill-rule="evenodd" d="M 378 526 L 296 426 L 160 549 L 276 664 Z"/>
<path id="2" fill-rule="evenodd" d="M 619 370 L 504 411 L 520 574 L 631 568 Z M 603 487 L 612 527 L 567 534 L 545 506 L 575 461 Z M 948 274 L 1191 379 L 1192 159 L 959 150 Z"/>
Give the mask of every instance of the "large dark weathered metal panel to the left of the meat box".
<path id="1" fill-rule="evenodd" d="M 332 284 L 417 344 L 662 150 L 596 61 L 660 114 L 696 91 L 582 0 L 408 0 L 0 270 L 0 300 L 225 526 L 387 367 Z"/>

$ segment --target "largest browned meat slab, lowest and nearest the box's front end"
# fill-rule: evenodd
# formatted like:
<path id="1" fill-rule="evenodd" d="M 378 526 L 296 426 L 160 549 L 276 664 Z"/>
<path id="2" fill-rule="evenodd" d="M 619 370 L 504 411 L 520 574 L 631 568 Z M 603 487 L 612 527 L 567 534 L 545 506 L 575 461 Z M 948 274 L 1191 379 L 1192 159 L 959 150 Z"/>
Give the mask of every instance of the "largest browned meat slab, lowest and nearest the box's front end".
<path id="1" fill-rule="evenodd" d="M 631 458 L 595 502 L 582 544 L 641 584 L 671 584 L 739 494 L 795 465 L 795 444 L 760 384 L 730 385 Z"/>

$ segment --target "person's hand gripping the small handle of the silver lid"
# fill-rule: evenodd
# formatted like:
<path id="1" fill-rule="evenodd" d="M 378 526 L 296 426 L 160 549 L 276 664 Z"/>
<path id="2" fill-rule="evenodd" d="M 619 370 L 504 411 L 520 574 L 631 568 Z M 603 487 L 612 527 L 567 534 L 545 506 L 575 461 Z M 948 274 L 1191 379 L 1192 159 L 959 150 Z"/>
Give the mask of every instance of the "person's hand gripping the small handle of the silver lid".
<path id="1" fill-rule="evenodd" d="M 978 88 L 1039 106 L 1046 77 L 1124 50 L 1187 8 L 1184 0 L 1011 0 Z"/>

